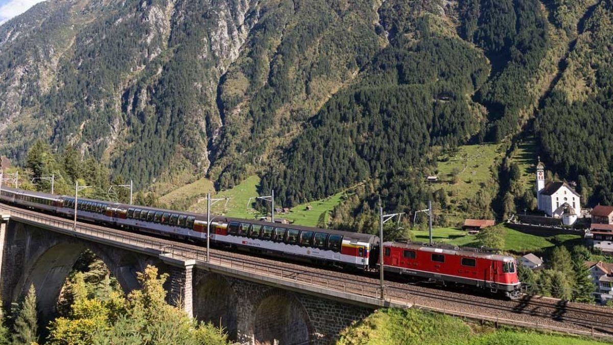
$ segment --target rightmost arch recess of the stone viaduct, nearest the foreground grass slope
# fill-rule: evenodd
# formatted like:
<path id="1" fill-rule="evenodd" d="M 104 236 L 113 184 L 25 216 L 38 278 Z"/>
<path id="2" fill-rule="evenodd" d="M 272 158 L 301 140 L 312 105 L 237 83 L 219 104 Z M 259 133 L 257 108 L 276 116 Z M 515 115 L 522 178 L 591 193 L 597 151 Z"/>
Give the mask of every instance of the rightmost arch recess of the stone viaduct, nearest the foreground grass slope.
<path id="1" fill-rule="evenodd" d="M 270 294 L 262 299 L 256 309 L 256 344 L 309 344 L 311 328 L 307 311 L 290 293 Z"/>

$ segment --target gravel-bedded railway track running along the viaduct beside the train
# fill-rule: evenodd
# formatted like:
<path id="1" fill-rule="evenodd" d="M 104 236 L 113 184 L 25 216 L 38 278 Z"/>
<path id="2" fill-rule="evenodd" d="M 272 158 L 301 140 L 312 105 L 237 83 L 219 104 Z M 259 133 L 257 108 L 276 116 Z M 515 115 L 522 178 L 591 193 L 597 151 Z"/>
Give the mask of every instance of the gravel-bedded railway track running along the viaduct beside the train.
<path id="1" fill-rule="evenodd" d="M 58 222 L 67 222 L 66 219 L 36 211 L 6 207 L 13 212 L 36 215 Z M 148 239 L 150 235 L 134 233 L 125 230 L 102 227 L 100 225 L 82 223 L 85 227 L 92 227 L 113 233 L 118 236 L 131 236 Z M 178 242 L 166 238 L 157 238 L 169 247 L 183 252 L 206 254 L 206 249 L 197 244 Z M 330 289 L 344 290 L 345 292 L 361 295 L 377 295 L 379 281 L 374 273 L 362 272 L 359 274 L 347 273 L 333 268 L 305 265 L 294 262 L 285 262 L 276 258 L 261 257 L 243 254 L 242 252 L 211 249 L 211 262 L 232 262 L 243 269 L 265 268 L 270 274 L 292 279 L 305 284 L 321 285 Z M 553 298 L 537 296 L 524 296 L 519 300 L 501 300 L 500 298 L 484 297 L 468 293 L 456 292 L 449 289 L 440 289 L 424 286 L 417 282 L 402 282 L 400 279 L 386 281 L 386 296 L 405 298 L 414 306 L 425 309 L 446 311 L 450 314 L 468 315 L 473 319 L 479 316 L 501 320 L 516 320 L 518 324 L 531 324 L 568 331 L 580 331 L 613 337 L 613 310 L 587 304 L 569 303 Z"/>

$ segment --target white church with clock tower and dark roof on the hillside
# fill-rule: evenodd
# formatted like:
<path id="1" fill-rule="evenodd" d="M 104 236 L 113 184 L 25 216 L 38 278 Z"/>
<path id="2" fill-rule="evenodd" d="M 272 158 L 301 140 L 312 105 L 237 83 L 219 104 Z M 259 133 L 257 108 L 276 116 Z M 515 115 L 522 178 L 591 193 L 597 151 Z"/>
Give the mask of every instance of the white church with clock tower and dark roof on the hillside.
<path id="1" fill-rule="evenodd" d="M 545 184 L 545 165 L 536 166 L 536 200 L 538 209 L 549 217 L 562 217 L 565 225 L 572 225 L 581 215 L 581 196 L 566 182 Z"/>

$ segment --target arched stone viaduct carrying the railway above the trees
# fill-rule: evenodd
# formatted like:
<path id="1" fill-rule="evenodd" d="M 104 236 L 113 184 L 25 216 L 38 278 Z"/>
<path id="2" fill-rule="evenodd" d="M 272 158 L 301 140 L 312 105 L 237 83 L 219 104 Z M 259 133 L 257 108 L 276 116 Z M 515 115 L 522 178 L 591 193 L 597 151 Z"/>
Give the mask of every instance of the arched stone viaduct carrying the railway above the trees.
<path id="1" fill-rule="evenodd" d="M 42 323 L 56 314 L 61 287 L 78 256 L 89 249 L 101 258 L 124 292 L 139 287 L 136 273 L 155 265 L 169 273 L 170 303 L 192 317 L 226 328 L 242 344 L 329 344 L 343 328 L 386 305 L 286 284 L 270 277 L 169 257 L 159 250 L 71 233 L 44 223 L 2 217 L 0 297 L 4 308 L 21 301 L 34 284 Z M 6 310 L 6 309 L 5 309 Z"/>

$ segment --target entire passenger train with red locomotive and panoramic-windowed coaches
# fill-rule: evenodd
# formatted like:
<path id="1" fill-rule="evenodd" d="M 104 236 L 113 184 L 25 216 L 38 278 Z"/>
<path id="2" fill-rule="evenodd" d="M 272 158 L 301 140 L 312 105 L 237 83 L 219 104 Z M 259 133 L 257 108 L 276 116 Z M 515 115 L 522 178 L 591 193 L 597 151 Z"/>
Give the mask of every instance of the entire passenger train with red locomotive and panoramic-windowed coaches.
<path id="1" fill-rule="evenodd" d="M 71 196 L 2 187 L 0 201 L 70 219 L 75 213 Z M 78 198 L 76 209 L 77 218 L 85 222 L 193 242 L 207 239 L 207 216 L 203 214 L 88 198 Z M 381 243 L 375 235 L 226 216 L 211 220 L 210 242 L 351 271 L 381 269 L 379 255 L 383 253 L 386 273 L 487 289 L 508 298 L 521 295 L 514 258 L 490 250 L 401 240 Z"/>

